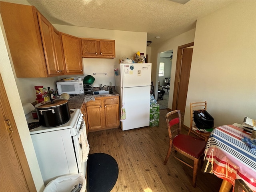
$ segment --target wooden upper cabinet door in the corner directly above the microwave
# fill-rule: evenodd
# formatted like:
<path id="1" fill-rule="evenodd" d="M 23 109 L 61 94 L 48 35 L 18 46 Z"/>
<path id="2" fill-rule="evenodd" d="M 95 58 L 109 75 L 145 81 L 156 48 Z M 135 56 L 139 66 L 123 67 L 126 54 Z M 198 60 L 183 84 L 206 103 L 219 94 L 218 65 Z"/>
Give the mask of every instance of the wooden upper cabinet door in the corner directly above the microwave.
<path id="1" fill-rule="evenodd" d="M 81 57 L 80 39 L 75 36 L 61 33 L 66 74 L 84 74 Z"/>

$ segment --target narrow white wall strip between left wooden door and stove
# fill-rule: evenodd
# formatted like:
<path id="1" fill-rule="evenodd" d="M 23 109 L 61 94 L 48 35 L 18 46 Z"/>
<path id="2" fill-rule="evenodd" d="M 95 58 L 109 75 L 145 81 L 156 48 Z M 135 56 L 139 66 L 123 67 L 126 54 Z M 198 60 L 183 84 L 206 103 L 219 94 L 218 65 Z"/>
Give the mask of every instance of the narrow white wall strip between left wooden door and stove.
<path id="1" fill-rule="evenodd" d="M 28 130 L 28 124 L 23 112 L 22 103 L 19 97 L 14 74 L 12 72 L 10 60 L 8 57 L 6 44 L 2 32 L 2 19 L 0 18 L 0 73 L 4 82 L 4 87 L 12 109 L 12 113 L 18 128 L 22 146 L 26 154 L 30 171 L 38 192 L 43 191 L 44 182 L 38 166 L 36 153 Z M 2 88 L 1 88 L 2 89 Z"/>

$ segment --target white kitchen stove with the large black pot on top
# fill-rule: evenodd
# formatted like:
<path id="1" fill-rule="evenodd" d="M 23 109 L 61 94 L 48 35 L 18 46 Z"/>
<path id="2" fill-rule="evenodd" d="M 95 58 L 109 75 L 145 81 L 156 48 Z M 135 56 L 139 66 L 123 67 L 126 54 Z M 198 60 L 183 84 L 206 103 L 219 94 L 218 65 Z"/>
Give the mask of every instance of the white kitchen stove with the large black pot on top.
<path id="1" fill-rule="evenodd" d="M 31 106 L 23 107 L 28 123 L 39 122 L 33 119 L 30 113 Z M 80 109 L 70 110 L 70 120 L 65 124 L 55 127 L 39 126 L 30 129 L 33 146 L 36 157 L 44 180 L 47 185 L 51 180 L 59 176 L 70 174 L 86 175 L 87 160 L 84 160 L 85 154 L 81 141 L 88 144 L 86 137 L 85 123 Z M 85 135 L 85 136 L 84 136 Z"/>

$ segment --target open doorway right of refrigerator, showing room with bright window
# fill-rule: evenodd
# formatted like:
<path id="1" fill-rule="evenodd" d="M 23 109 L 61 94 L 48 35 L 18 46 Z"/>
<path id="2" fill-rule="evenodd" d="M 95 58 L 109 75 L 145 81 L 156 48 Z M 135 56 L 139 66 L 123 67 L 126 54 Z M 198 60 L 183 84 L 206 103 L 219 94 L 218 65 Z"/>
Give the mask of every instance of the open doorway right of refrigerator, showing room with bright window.
<path id="1" fill-rule="evenodd" d="M 173 50 L 168 50 L 160 53 L 158 59 L 159 70 L 158 70 L 158 91 L 161 92 L 161 96 L 158 96 L 157 103 L 159 104 L 160 109 L 168 108 L 169 101 L 169 88 L 171 81 L 171 69 L 172 69 L 172 54 Z"/>

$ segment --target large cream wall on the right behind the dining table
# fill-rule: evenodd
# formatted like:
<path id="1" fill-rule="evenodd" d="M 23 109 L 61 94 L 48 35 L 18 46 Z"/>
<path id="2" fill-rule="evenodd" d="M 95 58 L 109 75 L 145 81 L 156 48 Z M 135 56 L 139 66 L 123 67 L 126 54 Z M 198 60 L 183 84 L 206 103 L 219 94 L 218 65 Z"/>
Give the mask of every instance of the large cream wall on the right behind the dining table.
<path id="1" fill-rule="evenodd" d="M 208 101 L 214 125 L 256 119 L 256 1 L 238 1 L 197 21 L 189 103 Z"/>

